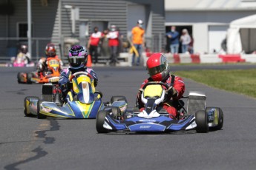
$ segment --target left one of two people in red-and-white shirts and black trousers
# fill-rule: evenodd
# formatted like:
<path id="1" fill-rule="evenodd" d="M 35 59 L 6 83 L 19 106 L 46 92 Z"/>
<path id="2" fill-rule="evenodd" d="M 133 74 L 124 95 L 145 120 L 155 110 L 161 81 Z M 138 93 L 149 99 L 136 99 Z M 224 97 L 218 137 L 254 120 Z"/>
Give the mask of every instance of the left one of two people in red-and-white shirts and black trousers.
<path id="1" fill-rule="evenodd" d="M 102 38 L 102 33 L 99 31 L 98 27 L 94 27 L 93 33 L 88 41 L 88 49 L 93 60 L 93 64 L 98 63 L 98 47 L 100 38 Z"/>

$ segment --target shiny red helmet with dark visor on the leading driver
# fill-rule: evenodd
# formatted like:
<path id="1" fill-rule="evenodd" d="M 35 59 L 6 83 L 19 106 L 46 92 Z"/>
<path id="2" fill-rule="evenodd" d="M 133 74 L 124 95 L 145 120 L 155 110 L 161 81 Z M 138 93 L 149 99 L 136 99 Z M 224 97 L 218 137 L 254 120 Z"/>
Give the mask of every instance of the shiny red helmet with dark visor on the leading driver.
<path id="1" fill-rule="evenodd" d="M 168 61 L 163 53 L 154 53 L 147 61 L 148 74 L 153 81 L 163 81 L 170 72 Z"/>

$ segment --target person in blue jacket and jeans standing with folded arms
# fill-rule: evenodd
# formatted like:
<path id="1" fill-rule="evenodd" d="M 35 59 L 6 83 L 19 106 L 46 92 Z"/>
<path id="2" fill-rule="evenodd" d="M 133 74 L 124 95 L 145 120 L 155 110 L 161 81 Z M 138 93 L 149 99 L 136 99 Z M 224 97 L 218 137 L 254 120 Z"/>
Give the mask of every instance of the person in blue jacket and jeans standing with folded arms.
<path id="1" fill-rule="evenodd" d="M 170 42 L 170 49 L 172 54 L 177 54 L 179 52 L 179 47 L 180 47 L 179 35 L 180 34 L 176 31 L 175 26 L 171 26 L 171 31 L 166 33 L 166 36 Z"/>

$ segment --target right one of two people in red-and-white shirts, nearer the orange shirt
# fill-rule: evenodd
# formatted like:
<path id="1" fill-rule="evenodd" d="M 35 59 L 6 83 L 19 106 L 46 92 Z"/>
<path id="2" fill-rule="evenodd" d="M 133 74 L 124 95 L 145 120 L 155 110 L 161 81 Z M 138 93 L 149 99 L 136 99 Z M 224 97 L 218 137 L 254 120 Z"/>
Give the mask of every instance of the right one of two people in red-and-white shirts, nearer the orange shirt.
<path id="1" fill-rule="evenodd" d="M 117 61 L 117 52 L 119 47 L 119 32 L 116 30 L 115 25 L 111 25 L 111 31 L 107 35 L 108 37 L 108 46 L 111 51 L 110 65 L 116 66 Z"/>

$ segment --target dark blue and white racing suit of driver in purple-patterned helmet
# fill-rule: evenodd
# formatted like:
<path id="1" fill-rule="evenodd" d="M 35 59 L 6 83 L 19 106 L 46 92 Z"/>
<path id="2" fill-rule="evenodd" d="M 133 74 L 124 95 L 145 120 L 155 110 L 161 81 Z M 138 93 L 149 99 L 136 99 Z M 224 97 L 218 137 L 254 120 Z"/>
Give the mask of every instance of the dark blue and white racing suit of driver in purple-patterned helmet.
<path id="1" fill-rule="evenodd" d="M 62 93 L 62 101 L 68 102 L 70 100 L 69 96 L 67 95 L 68 92 L 70 91 L 68 87 L 68 83 L 69 83 L 69 78 L 75 72 L 88 72 L 90 75 L 93 76 L 94 86 L 96 87 L 98 84 L 98 77 L 96 75 L 96 72 L 94 72 L 94 70 L 91 68 L 82 67 L 80 69 L 72 69 L 72 68 L 63 69 L 59 76 L 59 87 Z"/>

